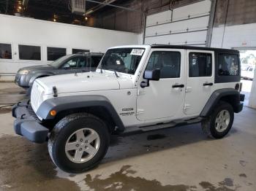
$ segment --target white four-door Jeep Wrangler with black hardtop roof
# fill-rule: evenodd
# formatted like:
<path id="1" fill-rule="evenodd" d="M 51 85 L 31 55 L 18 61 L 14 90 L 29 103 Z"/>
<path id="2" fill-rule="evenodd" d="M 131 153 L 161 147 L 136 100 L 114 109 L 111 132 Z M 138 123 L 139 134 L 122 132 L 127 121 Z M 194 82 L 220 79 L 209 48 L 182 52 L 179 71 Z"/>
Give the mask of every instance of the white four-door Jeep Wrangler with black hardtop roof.
<path id="1" fill-rule="evenodd" d="M 236 50 L 173 45 L 111 47 L 97 71 L 37 79 L 13 106 L 15 132 L 48 141 L 53 162 L 78 173 L 105 156 L 111 133 L 201 122 L 216 139 L 241 112 Z"/>

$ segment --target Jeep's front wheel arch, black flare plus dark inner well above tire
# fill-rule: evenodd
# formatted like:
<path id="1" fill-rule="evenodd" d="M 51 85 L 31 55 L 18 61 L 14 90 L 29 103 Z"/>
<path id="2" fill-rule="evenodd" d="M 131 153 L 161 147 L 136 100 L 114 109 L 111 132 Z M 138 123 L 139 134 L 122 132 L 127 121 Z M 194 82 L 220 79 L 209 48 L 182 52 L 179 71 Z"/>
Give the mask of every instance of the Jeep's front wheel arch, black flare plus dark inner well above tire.
<path id="1" fill-rule="evenodd" d="M 50 111 L 55 110 L 56 116 L 50 115 Z M 37 109 L 37 115 L 44 120 L 56 120 L 68 114 L 87 112 L 94 114 L 100 119 L 108 123 L 110 132 L 113 132 L 115 127 L 118 130 L 124 131 L 124 124 L 118 116 L 116 109 L 110 103 L 108 98 L 102 95 L 76 95 L 67 97 L 50 98 L 44 101 L 39 109 Z"/>

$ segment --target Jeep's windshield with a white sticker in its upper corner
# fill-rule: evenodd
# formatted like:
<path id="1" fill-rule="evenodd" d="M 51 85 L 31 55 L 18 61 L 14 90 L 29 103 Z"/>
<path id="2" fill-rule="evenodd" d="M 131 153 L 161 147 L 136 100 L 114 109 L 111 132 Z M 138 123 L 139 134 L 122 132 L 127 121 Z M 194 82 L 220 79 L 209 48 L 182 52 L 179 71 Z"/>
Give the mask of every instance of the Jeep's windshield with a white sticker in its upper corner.
<path id="1" fill-rule="evenodd" d="M 142 48 L 110 49 L 102 58 L 99 69 L 135 74 L 144 51 Z"/>

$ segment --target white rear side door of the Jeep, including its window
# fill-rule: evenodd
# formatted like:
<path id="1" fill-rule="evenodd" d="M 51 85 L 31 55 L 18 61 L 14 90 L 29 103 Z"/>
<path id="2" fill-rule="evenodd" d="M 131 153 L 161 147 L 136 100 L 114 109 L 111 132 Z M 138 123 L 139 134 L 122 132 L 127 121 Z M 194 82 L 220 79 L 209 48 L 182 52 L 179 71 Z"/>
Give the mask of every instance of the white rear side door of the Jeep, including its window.
<path id="1" fill-rule="evenodd" d="M 187 50 L 184 113 L 200 114 L 214 86 L 214 52 Z"/>

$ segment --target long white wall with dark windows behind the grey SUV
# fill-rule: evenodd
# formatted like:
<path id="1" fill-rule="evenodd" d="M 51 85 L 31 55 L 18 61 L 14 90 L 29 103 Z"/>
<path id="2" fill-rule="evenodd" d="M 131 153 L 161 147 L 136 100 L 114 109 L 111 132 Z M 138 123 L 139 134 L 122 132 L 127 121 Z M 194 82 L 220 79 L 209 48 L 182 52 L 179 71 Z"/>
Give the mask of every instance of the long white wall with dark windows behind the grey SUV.
<path id="1" fill-rule="evenodd" d="M 0 43 L 12 44 L 12 60 L 0 59 L 0 75 L 14 74 L 23 66 L 48 63 L 47 47 L 65 47 L 105 52 L 108 47 L 138 44 L 139 35 L 100 28 L 74 26 L 26 17 L 0 15 Z M 42 61 L 20 61 L 18 44 L 41 46 Z"/>

